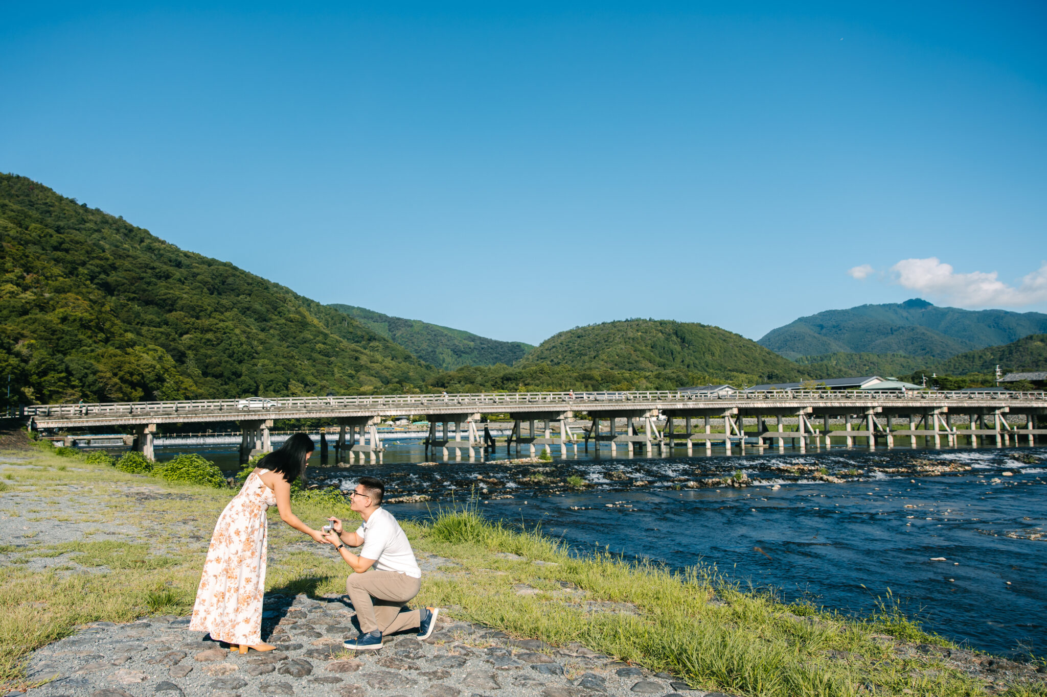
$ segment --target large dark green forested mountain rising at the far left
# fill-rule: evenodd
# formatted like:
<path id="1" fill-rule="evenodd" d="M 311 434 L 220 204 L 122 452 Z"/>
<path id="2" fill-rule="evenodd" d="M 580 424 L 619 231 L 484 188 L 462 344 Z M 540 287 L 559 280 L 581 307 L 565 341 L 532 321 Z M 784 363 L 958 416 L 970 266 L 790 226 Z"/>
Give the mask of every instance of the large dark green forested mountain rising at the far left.
<path id="1" fill-rule="evenodd" d="M 399 393 L 433 372 L 351 317 L 24 177 L 0 175 L 0 245 L 14 402 Z"/>

